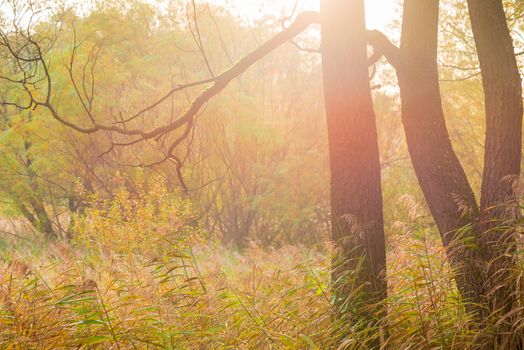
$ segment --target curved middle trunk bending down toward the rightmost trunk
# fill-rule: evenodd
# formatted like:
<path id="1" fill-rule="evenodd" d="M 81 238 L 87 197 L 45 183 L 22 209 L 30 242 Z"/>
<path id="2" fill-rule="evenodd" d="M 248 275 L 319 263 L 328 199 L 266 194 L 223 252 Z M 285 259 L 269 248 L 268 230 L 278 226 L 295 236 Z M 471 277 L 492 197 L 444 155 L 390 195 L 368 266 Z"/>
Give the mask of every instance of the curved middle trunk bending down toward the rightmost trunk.
<path id="1" fill-rule="evenodd" d="M 420 186 L 447 249 L 468 311 L 480 299 L 481 267 L 474 244 L 475 195 L 451 144 L 438 80 L 439 2 L 406 0 L 397 76 L 402 121 Z"/>

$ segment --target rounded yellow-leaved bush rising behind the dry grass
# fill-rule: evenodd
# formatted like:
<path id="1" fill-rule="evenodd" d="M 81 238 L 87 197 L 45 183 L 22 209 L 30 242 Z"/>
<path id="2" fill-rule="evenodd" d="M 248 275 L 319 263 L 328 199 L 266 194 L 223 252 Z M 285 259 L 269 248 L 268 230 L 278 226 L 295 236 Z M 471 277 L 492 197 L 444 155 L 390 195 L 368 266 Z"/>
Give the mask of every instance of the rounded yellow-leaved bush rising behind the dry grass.
<path id="1" fill-rule="evenodd" d="M 174 244 L 206 239 L 188 199 L 168 192 L 158 177 L 142 177 L 136 184 L 133 192 L 121 185 L 109 199 L 82 196 L 88 197 L 88 209 L 74 220 L 74 242 L 104 252 L 161 257 Z"/>

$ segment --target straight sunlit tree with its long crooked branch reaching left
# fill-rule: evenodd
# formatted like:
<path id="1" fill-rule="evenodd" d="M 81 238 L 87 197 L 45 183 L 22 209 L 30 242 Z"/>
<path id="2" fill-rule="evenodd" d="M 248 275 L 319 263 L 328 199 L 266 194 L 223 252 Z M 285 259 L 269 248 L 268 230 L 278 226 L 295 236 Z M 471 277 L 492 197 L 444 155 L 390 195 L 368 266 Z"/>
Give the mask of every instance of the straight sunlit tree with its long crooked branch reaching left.
<path id="1" fill-rule="evenodd" d="M 193 10 L 196 11 L 194 2 Z M 386 296 L 386 283 L 380 163 L 367 68 L 364 2 L 326 1 L 322 3 L 322 14 L 324 82 L 333 179 L 332 229 L 343 260 L 341 268 L 333 274 L 334 283 L 343 286 L 340 288 L 341 294 L 338 295 L 343 304 L 340 310 L 348 316 L 348 308 L 355 306 L 357 316 L 364 318 L 364 326 L 367 327 L 367 321 L 372 319 L 371 306 L 381 302 Z M 355 21 L 348 23 L 347 16 L 351 16 Z M 84 94 L 76 88 L 80 86 L 88 92 L 92 91 L 94 79 L 75 82 L 74 74 L 71 74 L 71 79 L 77 97 L 84 106 L 83 114 L 87 117 L 88 124 L 70 120 L 62 114 L 53 101 L 56 87 L 42 46 L 31 30 L 19 30 L 15 24 L 14 32 L 2 35 L 2 45 L 15 62 L 31 64 L 19 65 L 16 79 L 10 80 L 26 88 L 25 99 L 22 99 L 23 102 L 4 101 L 4 105 L 25 109 L 44 108 L 56 121 L 79 133 L 105 132 L 114 135 L 115 137 L 111 137 L 111 147 L 104 154 L 123 146 L 153 140 L 164 141 L 168 135 L 178 133 L 169 142 L 162 142 L 165 144 L 162 147 L 162 159 L 142 166 L 172 161 L 179 171 L 182 161 L 176 156 L 175 149 L 191 135 L 197 114 L 202 107 L 250 66 L 314 22 L 318 22 L 317 13 L 300 14 L 290 27 L 244 56 L 222 74 L 214 75 L 207 64 L 210 78 L 175 86 L 150 106 L 135 114 L 121 115 L 120 119 L 112 124 L 106 124 L 97 117 L 96 110 L 92 108 L 93 95 Z M 196 20 L 195 30 L 195 37 L 199 38 Z M 200 39 L 197 41 L 199 50 L 207 62 L 203 44 Z M 75 71 L 75 48 L 68 66 L 69 72 Z M 88 62 L 84 72 L 86 67 L 89 69 L 93 64 Z M 209 87 L 204 89 L 178 118 L 149 130 L 136 123 L 138 117 L 156 108 L 174 93 L 200 85 Z M 348 274 L 353 272 L 357 275 L 356 283 L 362 285 L 355 300 L 356 305 L 348 304 L 352 300 L 348 298 L 349 281 L 346 279 Z M 378 344 L 376 341 L 374 346 Z"/>

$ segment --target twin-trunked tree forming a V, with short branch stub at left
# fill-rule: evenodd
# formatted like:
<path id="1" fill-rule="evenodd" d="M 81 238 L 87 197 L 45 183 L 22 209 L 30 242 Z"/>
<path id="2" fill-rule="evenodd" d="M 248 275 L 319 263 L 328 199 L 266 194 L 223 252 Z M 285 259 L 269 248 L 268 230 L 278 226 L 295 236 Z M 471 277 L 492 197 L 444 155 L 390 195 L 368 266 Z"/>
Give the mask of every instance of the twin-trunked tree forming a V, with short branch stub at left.
<path id="1" fill-rule="evenodd" d="M 511 329 L 508 323 L 512 317 L 508 315 L 518 300 L 511 279 L 516 267 L 511 227 L 518 217 L 515 181 L 521 160 L 521 88 L 502 3 L 482 3 L 470 4 L 472 23 L 479 22 L 479 57 L 485 56 L 481 58 L 487 102 L 482 214 L 453 150 L 442 109 L 437 67 L 438 2 L 405 1 L 400 48 L 381 33 L 371 32 L 368 37 L 396 69 L 413 167 L 466 308 L 477 321 L 492 317 L 494 323 L 507 322 L 506 329 Z M 510 106 L 507 110 L 503 107 L 506 104 Z M 506 234 L 501 234 L 504 225 Z M 492 346 L 492 341 L 484 344 Z"/>

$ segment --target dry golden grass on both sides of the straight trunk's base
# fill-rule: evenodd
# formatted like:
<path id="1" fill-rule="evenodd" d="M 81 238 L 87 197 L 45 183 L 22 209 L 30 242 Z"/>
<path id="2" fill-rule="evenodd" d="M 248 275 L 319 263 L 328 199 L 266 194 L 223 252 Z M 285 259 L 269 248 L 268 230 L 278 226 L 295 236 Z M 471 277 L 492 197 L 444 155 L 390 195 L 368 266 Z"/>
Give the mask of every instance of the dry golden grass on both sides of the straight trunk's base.
<path id="1" fill-rule="evenodd" d="M 467 320 L 447 267 L 409 243 L 390 261 L 390 345 L 463 348 Z M 174 247 L 159 259 L 50 245 L 1 267 L 0 347 L 333 348 L 329 261 L 299 247 Z M 366 343 L 355 338 L 346 348 Z"/>

